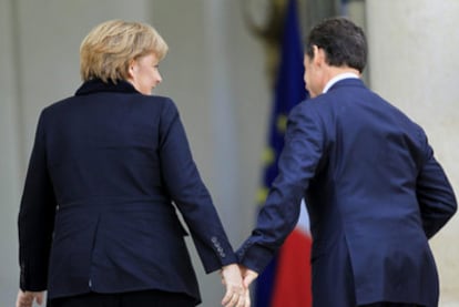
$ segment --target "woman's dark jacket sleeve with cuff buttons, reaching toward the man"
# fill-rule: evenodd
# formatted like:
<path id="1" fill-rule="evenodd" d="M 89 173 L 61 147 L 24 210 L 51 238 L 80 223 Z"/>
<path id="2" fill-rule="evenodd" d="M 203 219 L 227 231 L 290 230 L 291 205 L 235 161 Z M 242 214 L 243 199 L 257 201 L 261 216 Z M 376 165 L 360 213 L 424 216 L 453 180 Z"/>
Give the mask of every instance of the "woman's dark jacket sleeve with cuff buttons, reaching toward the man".
<path id="1" fill-rule="evenodd" d="M 193 161 L 178 111 L 171 100 L 162 110 L 160 140 L 163 180 L 192 234 L 205 272 L 236 263 L 211 195 Z"/>

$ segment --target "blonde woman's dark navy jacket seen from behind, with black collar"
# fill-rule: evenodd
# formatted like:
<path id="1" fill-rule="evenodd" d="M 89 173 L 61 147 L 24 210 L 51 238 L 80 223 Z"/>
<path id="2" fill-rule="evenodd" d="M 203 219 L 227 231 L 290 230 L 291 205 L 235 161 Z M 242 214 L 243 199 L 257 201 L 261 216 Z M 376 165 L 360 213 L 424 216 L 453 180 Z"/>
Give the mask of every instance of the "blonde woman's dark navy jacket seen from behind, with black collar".
<path id="1" fill-rule="evenodd" d="M 128 82 L 84 83 L 40 115 L 19 214 L 21 288 L 198 301 L 172 202 L 207 273 L 235 263 L 174 103 Z"/>

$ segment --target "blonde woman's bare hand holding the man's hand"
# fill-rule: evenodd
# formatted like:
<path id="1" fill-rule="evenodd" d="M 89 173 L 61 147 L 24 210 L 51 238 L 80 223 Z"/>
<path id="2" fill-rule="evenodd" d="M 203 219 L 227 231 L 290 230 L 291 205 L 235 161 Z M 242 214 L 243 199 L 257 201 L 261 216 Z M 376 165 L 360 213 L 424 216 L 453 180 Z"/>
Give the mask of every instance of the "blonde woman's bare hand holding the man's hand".
<path id="1" fill-rule="evenodd" d="M 222 284 L 226 286 L 222 305 L 225 307 L 249 307 L 251 295 L 248 287 L 244 287 L 238 265 L 231 264 L 222 268 Z"/>

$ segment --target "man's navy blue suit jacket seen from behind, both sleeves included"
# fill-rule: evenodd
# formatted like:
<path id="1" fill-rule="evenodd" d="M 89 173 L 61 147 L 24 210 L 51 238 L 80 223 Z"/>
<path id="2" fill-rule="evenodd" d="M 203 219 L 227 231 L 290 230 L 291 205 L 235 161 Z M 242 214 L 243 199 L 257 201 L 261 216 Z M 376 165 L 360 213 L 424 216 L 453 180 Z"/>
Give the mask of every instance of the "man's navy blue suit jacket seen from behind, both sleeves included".
<path id="1" fill-rule="evenodd" d="M 238 250 L 244 265 L 263 270 L 305 197 L 314 306 L 437 306 L 428 238 L 457 203 L 421 127 L 360 80 L 345 79 L 290 112 L 278 166 L 257 226 Z"/>

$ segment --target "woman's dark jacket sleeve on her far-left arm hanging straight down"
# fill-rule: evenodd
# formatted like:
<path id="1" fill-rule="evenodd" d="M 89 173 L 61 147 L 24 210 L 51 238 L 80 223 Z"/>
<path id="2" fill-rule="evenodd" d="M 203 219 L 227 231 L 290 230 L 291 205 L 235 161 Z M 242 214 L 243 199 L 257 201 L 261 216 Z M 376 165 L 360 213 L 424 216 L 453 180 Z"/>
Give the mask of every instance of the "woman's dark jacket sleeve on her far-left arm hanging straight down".
<path id="1" fill-rule="evenodd" d="M 44 290 L 54 227 L 55 197 L 47 167 L 43 113 L 26 176 L 18 217 L 20 288 Z"/>

